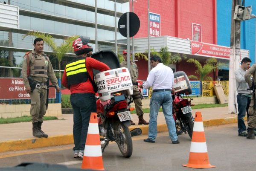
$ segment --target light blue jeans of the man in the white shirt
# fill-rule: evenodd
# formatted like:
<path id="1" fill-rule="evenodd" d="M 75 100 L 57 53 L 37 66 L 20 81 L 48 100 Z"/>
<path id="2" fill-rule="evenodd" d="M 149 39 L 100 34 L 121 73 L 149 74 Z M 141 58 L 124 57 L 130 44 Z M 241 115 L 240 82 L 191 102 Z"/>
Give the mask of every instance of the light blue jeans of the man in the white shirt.
<path id="1" fill-rule="evenodd" d="M 170 91 L 152 93 L 150 99 L 148 139 L 155 140 L 157 137 L 157 115 L 160 106 L 163 108 L 169 136 L 172 141 L 177 141 L 178 137 L 176 134 L 175 121 L 172 116 L 172 94 Z"/>

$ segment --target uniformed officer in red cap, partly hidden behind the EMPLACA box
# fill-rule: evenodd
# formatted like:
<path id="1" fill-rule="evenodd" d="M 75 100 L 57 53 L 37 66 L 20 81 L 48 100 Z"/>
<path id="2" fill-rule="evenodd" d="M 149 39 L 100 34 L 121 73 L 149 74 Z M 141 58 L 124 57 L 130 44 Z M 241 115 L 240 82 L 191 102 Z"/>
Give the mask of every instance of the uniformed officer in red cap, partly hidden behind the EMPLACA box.
<path id="1" fill-rule="evenodd" d="M 122 53 L 123 53 L 124 61 L 122 61 L 121 67 L 126 67 L 127 68 L 127 50 L 124 50 Z M 137 82 L 138 75 L 139 75 L 138 68 L 137 68 L 137 65 L 134 62 L 132 62 L 131 60 L 130 60 L 130 74 L 131 74 L 131 80 L 132 80 L 132 84 L 133 84 L 132 98 L 133 98 L 133 101 L 134 101 L 134 104 L 135 104 L 135 109 L 136 109 L 137 116 L 139 117 L 139 125 L 142 125 L 142 124 L 148 125 L 148 122 L 146 122 L 143 119 L 144 113 L 143 113 L 143 110 L 142 110 L 140 90 L 138 89 L 138 82 Z M 131 121 L 131 125 L 135 125 L 135 123 Z"/>

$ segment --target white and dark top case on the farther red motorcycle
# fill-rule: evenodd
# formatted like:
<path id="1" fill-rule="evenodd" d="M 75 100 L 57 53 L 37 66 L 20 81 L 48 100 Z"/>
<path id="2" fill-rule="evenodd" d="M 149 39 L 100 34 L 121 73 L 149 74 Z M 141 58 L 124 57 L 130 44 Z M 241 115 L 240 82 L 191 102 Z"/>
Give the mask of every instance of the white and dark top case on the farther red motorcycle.
<path id="1" fill-rule="evenodd" d="M 183 71 L 174 72 L 174 93 L 180 94 L 192 94 L 192 88 L 189 82 L 189 78 Z"/>

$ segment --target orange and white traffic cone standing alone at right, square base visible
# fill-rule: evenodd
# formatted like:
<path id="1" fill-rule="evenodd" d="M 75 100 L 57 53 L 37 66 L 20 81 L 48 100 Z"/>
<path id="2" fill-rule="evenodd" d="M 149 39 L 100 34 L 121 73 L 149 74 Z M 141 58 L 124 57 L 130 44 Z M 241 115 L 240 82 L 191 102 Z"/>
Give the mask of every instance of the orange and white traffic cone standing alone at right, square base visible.
<path id="1" fill-rule="evenodd" d="M 208 159 L 207 145 L 204 136 L 204 124 L 201 112 L 195 113 L 192 141 L 189 153 L 189 162 L 183 165 L 189 168 L 215 168 Z"/>

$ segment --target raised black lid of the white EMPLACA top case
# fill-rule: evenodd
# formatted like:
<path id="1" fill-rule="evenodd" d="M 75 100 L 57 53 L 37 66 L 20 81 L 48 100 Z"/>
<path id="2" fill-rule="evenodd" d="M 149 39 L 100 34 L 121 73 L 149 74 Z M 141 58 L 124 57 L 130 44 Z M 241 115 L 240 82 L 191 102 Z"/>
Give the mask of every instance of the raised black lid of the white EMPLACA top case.
<path id="1" fill-rule="evenodd" d="M 95 52 L 91 55 L 91 58 L 103 62 L 104 64 L 108 65 L 108 67 L 110 67 L 111 70 L 121 67 L 119 59 L 117 58 L 116 54 L 110 50 L 102 50 L 99 52 Z M 99 70 L 93 70 L 94 75 L 96 75 L 97 73 L 99 73 Z"/>

